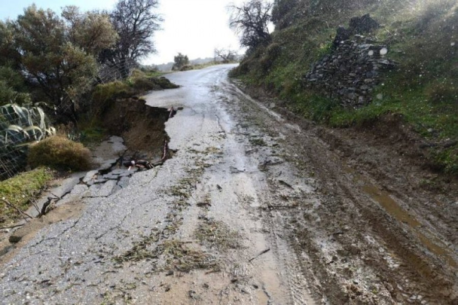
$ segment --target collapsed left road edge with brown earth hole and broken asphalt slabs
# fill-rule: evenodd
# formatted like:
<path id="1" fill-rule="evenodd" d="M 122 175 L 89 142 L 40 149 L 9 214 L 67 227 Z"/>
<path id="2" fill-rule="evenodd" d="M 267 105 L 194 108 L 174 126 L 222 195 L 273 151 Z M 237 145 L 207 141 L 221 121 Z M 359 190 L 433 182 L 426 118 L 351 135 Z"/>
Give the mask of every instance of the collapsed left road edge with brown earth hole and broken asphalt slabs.
<path id="1" fill-rule="evenodd" d="M 0 234 L 0 263 L 10 260 L 17 251 L 26 245 L 38 231 L 57 222 L 80 215 L 85 200 L 106 198 L 126 188 L 131 176 L 141 170 L 161 165 L 171 157 L 168 150 L 168 136 L 165 122 L 176 111 L 150 107 L 140 99 L 125 99 L 113 102 L 102 115 L 104 127 L 112 135 L 93 151 L 97 169 L 87 173 L 75 173 L 61 181 L 36 199 L 37 209 L 46 211 L 37 216 L 33 207 L 27 215 L 36 217 L 21 220 Z M 139 161 L 141 160 L 141 161 Z M 131 161 L 135 165 L 131 165 Z M 75 214 L 75 211 L 78 211 Z"/>

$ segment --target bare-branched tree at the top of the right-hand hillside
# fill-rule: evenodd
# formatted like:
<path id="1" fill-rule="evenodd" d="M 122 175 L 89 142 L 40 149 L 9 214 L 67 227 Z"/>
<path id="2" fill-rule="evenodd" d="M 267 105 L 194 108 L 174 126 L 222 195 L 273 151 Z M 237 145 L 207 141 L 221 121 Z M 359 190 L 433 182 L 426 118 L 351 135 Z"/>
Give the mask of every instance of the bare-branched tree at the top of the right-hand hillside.
<path id="1" fill-rule="evenodd" d="M 240 35 L 240 44 L 252 50 L 271 41 L 268 24 L 272 3 L 250 0 L 241 6 L 231 5 L 229 26 Z"/>

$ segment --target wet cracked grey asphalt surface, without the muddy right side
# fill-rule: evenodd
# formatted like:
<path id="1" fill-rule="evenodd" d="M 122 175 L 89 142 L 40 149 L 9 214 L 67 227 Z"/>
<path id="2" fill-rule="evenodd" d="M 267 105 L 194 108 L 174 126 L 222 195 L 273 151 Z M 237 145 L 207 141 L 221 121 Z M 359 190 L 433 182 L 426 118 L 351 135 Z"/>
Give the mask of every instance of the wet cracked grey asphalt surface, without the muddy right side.
<path id="1" fill-rule="evenodd" d="M 184 107 L 166 123 L 175 156 L 122 187 L 76 185 L 58 204 L 82 203 L 82 212 L 41 229 L 2 267 L 2 304 L 289 303 L 281 262 L 252 212 L 265 177 L 222 104 L 232 67 L 170 74 L 180 88 L 146 97 L 151 106 Z M 198 207 L 203 200 L 211 208 Z M 218 253 L 199 244 L 195 229 L 209 219 L 238 232 L 241 246 Z M 166 241 L 199 264 L 159 253 Z"/>

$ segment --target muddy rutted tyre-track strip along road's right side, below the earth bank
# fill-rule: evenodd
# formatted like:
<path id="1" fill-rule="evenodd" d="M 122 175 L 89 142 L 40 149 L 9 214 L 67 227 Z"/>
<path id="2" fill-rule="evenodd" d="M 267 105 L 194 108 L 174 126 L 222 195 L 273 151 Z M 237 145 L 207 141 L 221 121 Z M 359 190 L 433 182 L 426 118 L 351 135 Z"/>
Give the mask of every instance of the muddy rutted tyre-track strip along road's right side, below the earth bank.
<path id="1" fill-rule="evenodd" d="M 249 113 L 245 119 L 255 125 L 263 121 L 264 133 L 285 135 L 288 141 L 280 145 L 287 151 L 286 159 L 296 164 L 295 172 L 301 172 L 304 178 L 311 175 L 319 180 L 317 195 L 321 204 L 316 209 L 304 213 L 305 218 L 298 211 L 282 211 L 285 218 L 290 218 L 284 225 L 285 235 L 289 236 L 296 256 L 313 262 L 302 266 L 304 274 L 314 275 L 316 283 L 320 283 L 314 285 L 316 295 L 321 294 L 331 303 L 452 304 L 456 301 L 455 253 L 447 250 L 440 255 L 442 253 L 431 251 L 438 247 L 437 243 L 425 244 L 425 238 L 433 238 L 434 241 L 429 242 L 445 246 L 446 242 L 438 241 L 446 238 L 437 227 L 414 214 L 416 221 L 428 228 L 423 233 L 424 227 L 409 227 L 390 215 L 373 196 L 362 190 L 361 184 L 377 185 L 377 179 L 358 168 L 357 177 L 364 176 L 364 180 L 355 181 L 356 174 L 348 171 L 349 166 L 335 145 L 330 149 L 317 135 L 317 129 L 319 134 L 324 133 L 323 128 L 307 123 L 302 125 L 306 129 L 295 132 L 287 127 L 287 121 L 270 115 L 267 107 L 255 100 L 243 99 L 237 90 L 232 92 L 242 100 L 236 112 Z M 332 134 L 332 131 L 327 133 Z M 387 184 L 386 180 L 383 184 L 389 186 L 385 187 L 390 190 L 389 199 L 405 206 L 396 198 L 396 185 Z M 403 193 L 403 198 L 417 197 L 414 193 Z M 405 211 L 406 214 L 412 212 L 410 209 Z M 446 229 L 450 232 L 451 228 Z M 352 266 L 365 270 L 362 275 L 366 273 L 371 279 L 361 281 L 362 275 L 355 274 Z"/>

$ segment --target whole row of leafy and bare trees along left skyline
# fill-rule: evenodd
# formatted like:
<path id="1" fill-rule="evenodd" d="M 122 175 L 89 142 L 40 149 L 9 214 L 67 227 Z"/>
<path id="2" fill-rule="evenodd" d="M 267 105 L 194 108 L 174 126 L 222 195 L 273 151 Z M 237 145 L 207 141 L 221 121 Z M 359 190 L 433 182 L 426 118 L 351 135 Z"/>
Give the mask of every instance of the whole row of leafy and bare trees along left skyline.
<path id="1" fill-rule="evenodd" d="M 62 120 L 76 120 L 102 65 L 128 76 L 129 63 L 155 52 L 162 19 L 158 0 L 119 0 L 112 11 L 60 15 L 35 5 L 0 21 L 0 105 L 45 101 Z"/>

